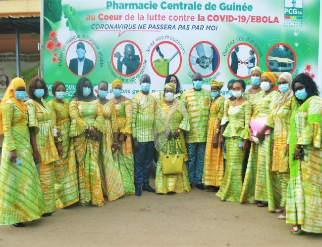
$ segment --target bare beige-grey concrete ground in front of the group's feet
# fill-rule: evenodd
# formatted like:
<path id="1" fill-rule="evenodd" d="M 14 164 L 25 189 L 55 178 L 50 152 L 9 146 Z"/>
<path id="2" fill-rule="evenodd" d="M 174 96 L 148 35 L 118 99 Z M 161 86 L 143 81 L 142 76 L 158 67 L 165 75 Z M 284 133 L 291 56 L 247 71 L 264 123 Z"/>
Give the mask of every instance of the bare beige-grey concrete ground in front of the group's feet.
<path id="1" fill-rule="evenodd" d="M 169 195 L 143 191 L 104 207 L 57 209 L 24 228 L 0 226 L 0 246 L 322 246 L 321 234 L 291 235 L 278 215 L 221 202 L 196 187 Z"/>

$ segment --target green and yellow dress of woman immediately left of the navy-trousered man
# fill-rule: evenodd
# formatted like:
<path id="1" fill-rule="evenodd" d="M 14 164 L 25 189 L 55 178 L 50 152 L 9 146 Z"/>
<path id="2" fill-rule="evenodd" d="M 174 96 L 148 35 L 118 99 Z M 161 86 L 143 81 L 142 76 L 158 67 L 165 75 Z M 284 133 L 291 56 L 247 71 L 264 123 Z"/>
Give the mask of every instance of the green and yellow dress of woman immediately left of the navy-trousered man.
<path id="1" fill-rule="evenodd" d="M 126 141 L 119 142 L 116 161 L 121 172 L 124 196 L 133 195 L 135 192 L 134 186 L 134 159 L 132 149 L 132 105 L 126 99 L 121 103 L 115 104 L 116 119 L 118 133 L 123 133 L 127 136 Z"/>

